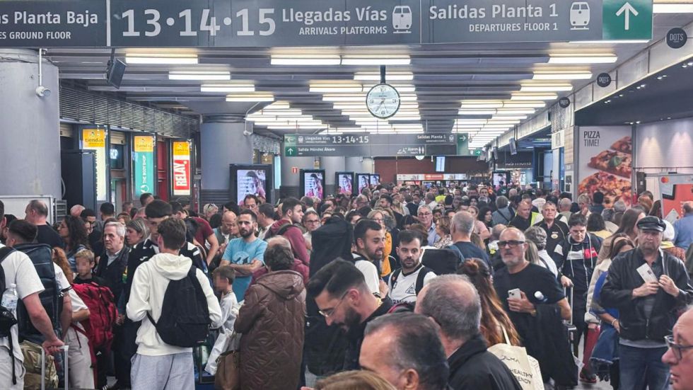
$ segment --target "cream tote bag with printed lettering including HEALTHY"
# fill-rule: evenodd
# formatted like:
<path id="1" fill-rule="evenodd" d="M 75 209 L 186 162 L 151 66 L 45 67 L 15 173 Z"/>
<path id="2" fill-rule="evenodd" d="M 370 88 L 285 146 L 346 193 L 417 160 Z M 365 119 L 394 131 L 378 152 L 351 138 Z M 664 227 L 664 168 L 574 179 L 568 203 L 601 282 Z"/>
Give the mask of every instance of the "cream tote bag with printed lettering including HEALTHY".
<path id="1" fill-rule="evenodd" d="M 543 390 L 544 380 L 539 362 L 528 355 L 524 347 L 511 345 L 506 328 L 501 326 L 501 329 L 506 343 L 491 345 L 489 352 L 496 355 L 511 370 L 523 390 Z"/>

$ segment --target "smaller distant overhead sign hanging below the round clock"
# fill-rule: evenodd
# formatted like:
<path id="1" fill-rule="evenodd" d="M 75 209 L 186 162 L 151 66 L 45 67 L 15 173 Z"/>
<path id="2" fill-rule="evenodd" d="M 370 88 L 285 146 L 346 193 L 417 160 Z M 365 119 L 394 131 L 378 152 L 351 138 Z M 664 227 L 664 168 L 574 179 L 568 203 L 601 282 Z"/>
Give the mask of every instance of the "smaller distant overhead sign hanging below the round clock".
<path id="1" fill-rule="evenodd" d="M 472 156 L 468 138 L 451 133 L 286 134 L 284 156 Z"/>

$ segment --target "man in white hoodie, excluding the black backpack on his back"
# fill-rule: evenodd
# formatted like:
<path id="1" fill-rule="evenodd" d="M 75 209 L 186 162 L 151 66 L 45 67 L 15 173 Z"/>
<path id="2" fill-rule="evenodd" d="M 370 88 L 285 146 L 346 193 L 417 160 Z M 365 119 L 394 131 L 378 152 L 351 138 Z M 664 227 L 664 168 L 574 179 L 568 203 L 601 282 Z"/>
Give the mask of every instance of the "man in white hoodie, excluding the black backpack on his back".
<path id="1" fill-rule="evenodd" d="M 127 303 L 129 319 L 142 321 L 130 373 L 132 389 L 194 389 L 192 348 L 164 343 L 147 316 L 159 320 L 168 283 L 187 277 L 190 271 L 192 260 L 178 254 L 185 245 L 185 223 L 175 218 L 163 220 L 158 225 L 157 244 L 160 252 L 135 271 Z M 209 280 L 199 269 L 195 276 L 206 298 L 211 326 L 219 328 L 221 307 Z"/>

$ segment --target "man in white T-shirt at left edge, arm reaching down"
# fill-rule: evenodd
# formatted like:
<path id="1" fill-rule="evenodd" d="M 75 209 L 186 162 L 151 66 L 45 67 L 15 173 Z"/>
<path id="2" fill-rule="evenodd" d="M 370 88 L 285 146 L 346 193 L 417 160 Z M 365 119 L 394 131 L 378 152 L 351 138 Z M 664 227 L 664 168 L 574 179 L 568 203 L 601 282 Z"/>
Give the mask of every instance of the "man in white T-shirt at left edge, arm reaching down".
<path id="1" fill-rule="evenodd" d="M 5 207 L 0 201 L 0 230 L 6 224 Z M 0 250 L 6 251 L 0 244 Z M 26 307 L 31 323 L 44 335 L 43 348 L 48 353 L 58 352 L 62 347 L 62 341 L 55 335 L 53 326 L 41 304 L 38 294 L 43 291 L 43 285 L 39 279 L 33 263 L 28 256 L 18 251 L 12 251 L 1 262 L 5 274 L 5 285 L 17 286 L 17 294 Z M 12 326 L 10 338 L 0 338 L 0 389 L 21 390 L 24 389 L 24 357 L 19 346 L 18 327 Z M 12 351 L 12 352 L 10 352 Z M 12 353 L 12 355 L 10 355 Z"/>

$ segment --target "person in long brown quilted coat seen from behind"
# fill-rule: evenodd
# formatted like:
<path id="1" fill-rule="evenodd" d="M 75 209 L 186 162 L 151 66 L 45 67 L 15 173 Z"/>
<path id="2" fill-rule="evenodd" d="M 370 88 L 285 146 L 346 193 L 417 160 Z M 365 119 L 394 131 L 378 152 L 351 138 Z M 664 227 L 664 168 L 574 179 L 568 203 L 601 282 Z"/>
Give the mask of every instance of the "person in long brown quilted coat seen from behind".
<path id="1" fill-rule="evenodd" d="M 268 246 L 269 273 L 245 293 L 234 328 L 240 338 L 240 386 L 244 390 L 296 389 L 301 371 L 305 287 L 291 271 L 291 248 Z"/>

